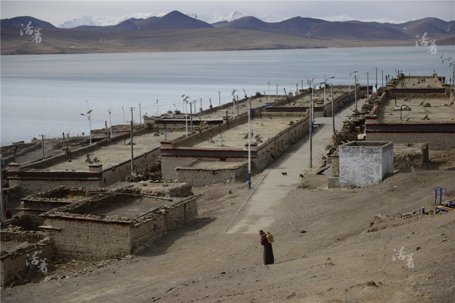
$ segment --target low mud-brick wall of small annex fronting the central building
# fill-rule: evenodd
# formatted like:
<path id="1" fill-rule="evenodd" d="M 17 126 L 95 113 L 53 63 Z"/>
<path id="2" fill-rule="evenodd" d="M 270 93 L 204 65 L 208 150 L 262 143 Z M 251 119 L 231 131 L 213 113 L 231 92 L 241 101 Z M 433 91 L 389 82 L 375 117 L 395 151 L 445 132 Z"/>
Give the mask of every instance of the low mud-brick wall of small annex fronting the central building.
<path id="1" fill-rule="evenodd" d="M 232 168 L 202 169 L 190 167 L 177 167 L 177 182 L 188 183 L 194 187 L 203 187 L 226 180 L 245 181 L 248 177 L 248 162 L 240 162 Z"/>

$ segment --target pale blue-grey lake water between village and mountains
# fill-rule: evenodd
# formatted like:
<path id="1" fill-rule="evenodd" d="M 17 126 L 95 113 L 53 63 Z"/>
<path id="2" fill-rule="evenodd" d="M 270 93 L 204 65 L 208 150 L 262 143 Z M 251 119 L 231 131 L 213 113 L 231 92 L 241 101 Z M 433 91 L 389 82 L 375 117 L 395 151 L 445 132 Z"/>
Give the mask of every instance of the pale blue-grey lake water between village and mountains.
<path id="1" fill-rule="evenodd" d="M 80 55 L 1 56 L 1 145 L 30 140 L 44 134 L 47 138 L 63 132 L 88 134 L 92 111 L 92 129 L 102 128 L 111 109 L 112 124 L 141 114 L 154 115 L 158 100 L 160 113 L 181 110 L 183 98 L 198 100 L 200 107 L 232 101 L 232 91 L 243 98 L 259 91 L 282 95 L 286 91 L 307 88 L 306 79 L 315 83 L 326 77 L 333 84 L 348 84 L 348 70 L 357 71 L 359 83 L 382 85 L 384 75 L 431 75 L 441 72 L 443 58 L 453 56 L 453 46 L 437 46 L 437 54 L 425 47 L 384 47 L 350 49 L 308 49 L 232 52 L 121 53 Z M 447 61 L 443 75 L 448 74 Z M 352 75 L 352 77 L 354 74 Z M 352 78 L 353 79 L 353 78 Z M 267 84 L 270 81 L 271 85 Z M 351 80 L 353 84 L 353 80 Z M 218 94 L 218 92 L 221 92 Z M 219 100 L 219 96 L 221 97 Z M 88 103 L 87 103 L 88 100 Z M 124 107 L 124 115 L 123 109 Z M 189 109 L 188 109 L 189 111 Z"/>

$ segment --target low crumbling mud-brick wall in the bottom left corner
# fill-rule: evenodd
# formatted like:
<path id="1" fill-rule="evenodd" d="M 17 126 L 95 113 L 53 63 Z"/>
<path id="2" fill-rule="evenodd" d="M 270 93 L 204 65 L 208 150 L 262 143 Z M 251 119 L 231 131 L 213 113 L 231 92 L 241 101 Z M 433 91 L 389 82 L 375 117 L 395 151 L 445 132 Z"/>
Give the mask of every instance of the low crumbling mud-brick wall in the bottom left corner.
<path id="1" fill-rule="evenodd" d="M 27 275 L 28 266 L 26 264 L 26 257 L 27 254 L 32 256 L 35 251 L 37 252 L 36 256 L 40 260 L 46 258 L 47 260 L 45 262 L 50 264 L 50 259 L 54 255 L 54 250 L 52 243 L 46 240 L 1 257 L 2 266 L 0 266 L 0 287 L 5 287 L 9 283 L 13 282 L 16 275 L 21 278 L 24 278 Z"/>

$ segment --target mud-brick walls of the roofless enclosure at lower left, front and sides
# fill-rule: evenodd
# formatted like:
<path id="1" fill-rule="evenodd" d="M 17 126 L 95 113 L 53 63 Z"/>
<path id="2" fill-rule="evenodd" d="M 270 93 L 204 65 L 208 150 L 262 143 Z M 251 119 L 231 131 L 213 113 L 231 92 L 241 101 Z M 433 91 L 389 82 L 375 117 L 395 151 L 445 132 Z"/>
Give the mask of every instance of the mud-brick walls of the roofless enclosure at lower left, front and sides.
<path id="1" fill-rule="evenodd" d="M 42 215 L 43 229 L 50 234 L 57 254 L 89 261 L 124 256 L 133 253 L 145 242 L 179 227 L 198 215 L 195 197 L 136 220 L 81 213 L 104 207 L 121 198 L 120 195 L 109 196 L 103 197 L 103 201 L 64 206 L 57 209 L 58 211 Z"/>

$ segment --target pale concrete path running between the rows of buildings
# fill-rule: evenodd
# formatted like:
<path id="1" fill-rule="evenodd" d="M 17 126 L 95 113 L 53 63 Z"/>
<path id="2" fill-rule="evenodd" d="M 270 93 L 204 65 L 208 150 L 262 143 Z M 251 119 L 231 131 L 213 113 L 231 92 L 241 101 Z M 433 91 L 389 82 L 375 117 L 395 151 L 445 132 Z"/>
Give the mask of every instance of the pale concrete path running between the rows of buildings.
<path id="1" fill-rule="evenodd" d="M 341 129 L 343 121 L 351 112 L 348 107 L 335 116 L 337 130 Z M 311 170 L 320 167 L 319 159 L 325 154 L 326 146 L 331 141 L 332 117 L 316 118 L 314 129 L 316 132 L 312 136 Z M 304 171 L 309 169 L 309 147 L 308 138 L 284 155 L 274 166 L 264 171 L 262 179 L 251 185 L 251 195 L 226 227 L 225 233 L 256 234 L 260 229 L 266 231 L 274 220 L 277 205 L 299 185 L 301 182 L 299 175 L 306 175 Z M 283 176 L 283 172 L 286 172 L 287 176 Z"/>

